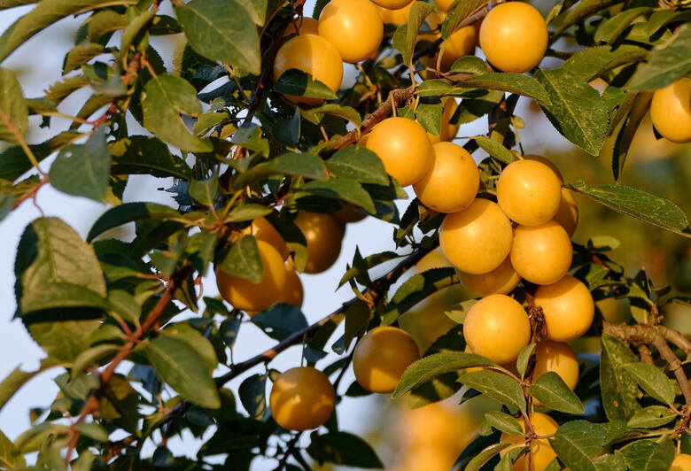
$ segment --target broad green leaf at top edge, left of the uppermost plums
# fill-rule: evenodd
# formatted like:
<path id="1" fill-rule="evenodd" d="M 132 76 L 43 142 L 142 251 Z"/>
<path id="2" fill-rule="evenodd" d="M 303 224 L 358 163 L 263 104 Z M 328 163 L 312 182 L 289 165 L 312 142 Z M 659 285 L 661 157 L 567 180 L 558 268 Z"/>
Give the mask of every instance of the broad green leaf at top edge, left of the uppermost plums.
<path id="1" fill-rule="evenodd" d="M 259 74 L 260 42 L 254 19 L 238 0 L 192 0 L 175 13 L 193 50 L 214 62 Z"/>

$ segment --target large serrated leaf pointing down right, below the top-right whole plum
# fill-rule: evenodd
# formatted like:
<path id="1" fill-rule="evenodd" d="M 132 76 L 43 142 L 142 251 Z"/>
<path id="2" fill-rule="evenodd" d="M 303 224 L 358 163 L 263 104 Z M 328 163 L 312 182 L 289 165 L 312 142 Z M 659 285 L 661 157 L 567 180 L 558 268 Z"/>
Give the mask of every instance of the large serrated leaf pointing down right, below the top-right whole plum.
<path id="1" fill-rule="evenodd" d="M 535 77 L 552 102 L 541 106 L 556 130 L 589 154 L 598 155 L 607 136 L 603 123 L 609 122 L 609 111 L 597 90 L 561 69 L 540 69 Z"/>

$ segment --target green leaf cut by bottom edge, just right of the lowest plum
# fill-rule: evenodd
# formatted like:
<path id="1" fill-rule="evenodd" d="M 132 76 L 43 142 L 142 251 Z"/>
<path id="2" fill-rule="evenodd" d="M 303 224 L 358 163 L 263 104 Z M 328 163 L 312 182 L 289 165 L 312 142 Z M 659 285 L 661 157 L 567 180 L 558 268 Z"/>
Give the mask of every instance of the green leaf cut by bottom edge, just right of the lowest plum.
<path id="1" fill-rule="evenodd" d="M 563 464 L 578 471 L 596 471 L 593 457 L 602 451 L 605 429 L 587 421 L 571 421 L 556 430 L 549 444 Z"/>

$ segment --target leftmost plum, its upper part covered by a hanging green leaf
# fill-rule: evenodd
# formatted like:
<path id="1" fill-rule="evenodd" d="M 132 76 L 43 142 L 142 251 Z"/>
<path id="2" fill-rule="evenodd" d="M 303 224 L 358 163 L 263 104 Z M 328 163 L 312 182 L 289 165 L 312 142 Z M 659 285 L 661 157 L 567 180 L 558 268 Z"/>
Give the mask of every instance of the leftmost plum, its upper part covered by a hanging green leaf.
<path id="1" fill-rule="evenodd" d="M 271 244 L 257 241 L 264 274 L 260 282 L 228 274 L 219 266 L 216 269 L 216 285 L 221 297 L 233 307 L 243 311 L 259 312 L 273 305 L 285 286 L 283 257 Z"/>

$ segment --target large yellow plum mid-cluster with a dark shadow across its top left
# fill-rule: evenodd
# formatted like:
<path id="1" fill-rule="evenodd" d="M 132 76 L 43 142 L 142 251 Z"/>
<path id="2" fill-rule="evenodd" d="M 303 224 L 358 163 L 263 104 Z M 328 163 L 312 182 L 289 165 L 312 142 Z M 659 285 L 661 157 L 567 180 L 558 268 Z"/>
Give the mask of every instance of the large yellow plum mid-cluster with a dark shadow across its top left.
<path id="1" fill-rule="evenodd" d="M 463 211 L 446 215 L 439 245 L 456 268 L 484 274 L 501 265 L 511 250 L 511 221 L 492 201 L 476 198 Z"/>

